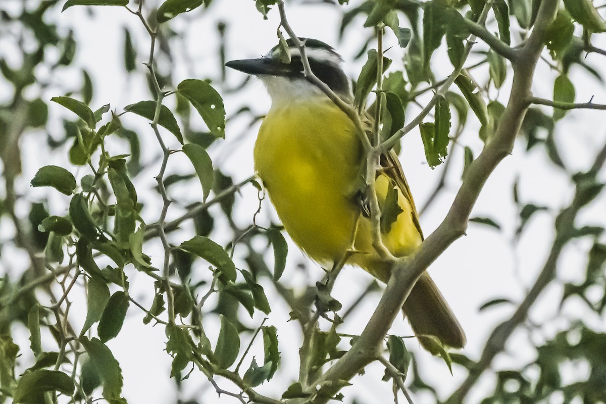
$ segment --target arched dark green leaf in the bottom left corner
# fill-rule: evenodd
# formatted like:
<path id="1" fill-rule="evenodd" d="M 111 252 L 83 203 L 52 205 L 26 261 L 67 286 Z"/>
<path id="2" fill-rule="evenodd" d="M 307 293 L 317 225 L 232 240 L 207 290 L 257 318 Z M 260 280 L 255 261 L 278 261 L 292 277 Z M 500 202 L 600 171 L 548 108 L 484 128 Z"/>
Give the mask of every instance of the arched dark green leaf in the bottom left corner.
<path id="1" fill-rule="evenodd" d="M 39 404 L 44 403 L 44 393 L 59 391 L 67 396 L 74 392 L 74 382 L 67 374 L 58 370 L 38 369 L 25 373 L 15 389 L 15 403 Z"/>

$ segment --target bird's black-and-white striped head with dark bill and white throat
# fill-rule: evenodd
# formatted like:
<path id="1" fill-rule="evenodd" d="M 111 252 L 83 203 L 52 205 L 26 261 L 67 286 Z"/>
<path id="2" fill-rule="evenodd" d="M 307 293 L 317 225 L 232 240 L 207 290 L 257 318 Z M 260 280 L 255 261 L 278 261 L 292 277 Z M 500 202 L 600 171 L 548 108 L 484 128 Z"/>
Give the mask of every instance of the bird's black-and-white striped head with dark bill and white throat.
<path id="1" fill-rule="evenodd" d="M 350 82 L 341 68 L 341 56 L 330 45 L 318 39 L 299 39 L 305 42 L 305 52 L 313 74 L 342 99 L 350 100 Z M 305 79 L 299 49 L 291 39 L 286 43 L 288 49 L 277 45 L 261 58 L 230 61 L 225 65 L 261 79 L 275 103 L 325 97 L 316 85 Z"/>

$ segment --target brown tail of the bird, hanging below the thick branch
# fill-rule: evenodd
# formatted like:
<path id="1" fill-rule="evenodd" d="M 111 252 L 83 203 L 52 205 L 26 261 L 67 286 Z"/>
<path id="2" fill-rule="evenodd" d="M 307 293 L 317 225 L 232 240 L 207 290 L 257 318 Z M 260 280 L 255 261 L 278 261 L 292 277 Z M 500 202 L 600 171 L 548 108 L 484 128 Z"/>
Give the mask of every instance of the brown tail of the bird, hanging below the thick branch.
<path id="1" fill-rule="evenodd" d="M 429 274 L 422 274 L 410 291 L 402 310 L 408 316 L 408 321 L 416 335 L 438 337 L 444 345 L 451 348 L 465 346 L 467 342 L 465 332 Z M 419 342 L 425 349 L 435 354 L 435 349 L 431 348 L 427 340 L 424 341 L 424 338 L 420 337 Z"/>

